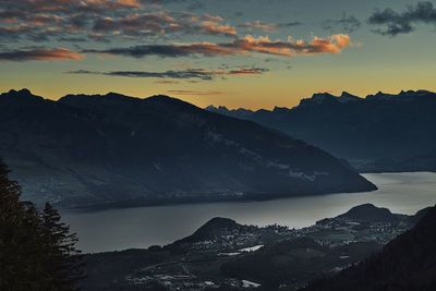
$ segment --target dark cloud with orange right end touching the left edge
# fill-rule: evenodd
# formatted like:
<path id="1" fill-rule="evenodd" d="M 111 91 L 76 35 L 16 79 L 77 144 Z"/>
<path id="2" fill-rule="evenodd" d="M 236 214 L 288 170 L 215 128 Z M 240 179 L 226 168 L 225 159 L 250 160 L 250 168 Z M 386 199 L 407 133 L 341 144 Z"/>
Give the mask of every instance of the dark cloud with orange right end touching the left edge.
<path id="1" fill-rule="evenodd" d="M 82 56 L 63 48 L 0 51 L 0 61 L 82 60 Z"/>

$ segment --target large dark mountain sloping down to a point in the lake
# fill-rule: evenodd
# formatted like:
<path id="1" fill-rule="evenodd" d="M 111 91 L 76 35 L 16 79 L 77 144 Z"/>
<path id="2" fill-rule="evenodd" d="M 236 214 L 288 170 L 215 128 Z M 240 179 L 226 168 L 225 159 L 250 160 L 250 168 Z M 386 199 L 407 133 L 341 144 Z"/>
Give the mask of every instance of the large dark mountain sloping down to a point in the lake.
<path id="1" fill-rule="evenodd" d="M 63 207 L 263 199 L 375 186 L 306 143 L 167 96 L 0 95 L 0 155 Z"/>

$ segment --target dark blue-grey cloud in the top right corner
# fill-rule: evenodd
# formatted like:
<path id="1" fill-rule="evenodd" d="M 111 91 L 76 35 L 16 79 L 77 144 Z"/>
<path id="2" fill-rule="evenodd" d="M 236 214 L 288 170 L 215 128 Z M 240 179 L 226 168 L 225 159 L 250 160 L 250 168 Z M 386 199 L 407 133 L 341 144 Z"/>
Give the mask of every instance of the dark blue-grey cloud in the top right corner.
<path id="1" fill-rule="evenodd" d="M 436 8 L 429 1 L 417 2 L 405 11 L 398 13 L 392 9 L 376 10 L 368 19 L 373 25 L 383 25 L 375 33 L 388 36 L 408 34 L 414 31 L 415 24 L 436 24 Z"/>

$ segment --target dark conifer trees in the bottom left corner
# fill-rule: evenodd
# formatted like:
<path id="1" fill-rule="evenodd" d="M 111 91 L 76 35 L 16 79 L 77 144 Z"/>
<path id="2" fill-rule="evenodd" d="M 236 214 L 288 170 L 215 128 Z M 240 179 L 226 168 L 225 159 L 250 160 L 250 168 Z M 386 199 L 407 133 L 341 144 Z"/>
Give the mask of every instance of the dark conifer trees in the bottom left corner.
<path id="1" fill-rule="evenodd" d="M 77 238 L 47 203 L 39 211 L 21 201 L 21 186 L 0 159 L 0 290 L 78 290 Z"/>

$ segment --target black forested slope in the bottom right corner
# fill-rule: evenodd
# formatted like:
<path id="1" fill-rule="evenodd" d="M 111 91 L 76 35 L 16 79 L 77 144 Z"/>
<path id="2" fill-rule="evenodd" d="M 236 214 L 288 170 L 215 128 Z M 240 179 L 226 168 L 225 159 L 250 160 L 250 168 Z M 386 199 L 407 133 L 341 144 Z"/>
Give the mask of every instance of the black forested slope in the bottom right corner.
<path id="1" fill-rule="evenodd" d="M 436 208 L 425 211 L 414 228 L 389 242 L 380 253 L 303 290 L 436 290 Z"/>

